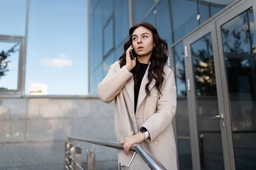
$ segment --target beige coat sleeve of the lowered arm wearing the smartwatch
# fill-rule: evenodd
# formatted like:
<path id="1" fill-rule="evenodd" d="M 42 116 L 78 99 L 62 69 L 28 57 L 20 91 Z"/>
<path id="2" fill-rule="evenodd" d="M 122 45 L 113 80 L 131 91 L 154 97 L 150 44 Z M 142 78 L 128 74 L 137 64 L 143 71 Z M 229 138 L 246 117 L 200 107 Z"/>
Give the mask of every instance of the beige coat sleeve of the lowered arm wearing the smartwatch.
<path id="1" fill-rule="evenodd" d="M 173 71 L 171 71 L 157 101 L 157 112 L 140 126 L 140 128 L 145 127 L 148 130 L 150 137 L 146 139 L 147 142 L 154 141 L 170 125 L 175 116 L 176 105 L 176 85 Z"/>

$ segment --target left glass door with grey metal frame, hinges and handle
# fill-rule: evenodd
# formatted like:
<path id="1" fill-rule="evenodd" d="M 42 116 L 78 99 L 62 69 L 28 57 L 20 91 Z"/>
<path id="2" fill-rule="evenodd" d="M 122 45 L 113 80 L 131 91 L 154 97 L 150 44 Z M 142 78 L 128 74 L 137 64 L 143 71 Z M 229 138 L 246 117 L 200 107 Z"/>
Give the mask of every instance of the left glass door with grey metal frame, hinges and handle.
<path id="1" fill-rule="evenodd" d="M 192 161 L 195 170 L 228 170 L 215 23 L 184 40 Z"/>

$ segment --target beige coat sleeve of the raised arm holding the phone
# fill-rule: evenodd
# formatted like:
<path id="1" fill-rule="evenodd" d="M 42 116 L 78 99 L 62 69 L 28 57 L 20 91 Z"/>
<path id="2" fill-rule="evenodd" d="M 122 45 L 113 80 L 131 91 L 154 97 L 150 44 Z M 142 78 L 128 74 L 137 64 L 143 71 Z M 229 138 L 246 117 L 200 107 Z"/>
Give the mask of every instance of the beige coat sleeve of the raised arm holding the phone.
<path id="1" fill-rule="evenodd" d="M 120 93 L 125 83 L 132 77 L 131 72 L 126 67 L 122 67 L 116 73 L 114 68 L 117 65 L 113 64 L 108 71 L 107 76 L 98 85 L 98 96 L 106 103 L 110 103 Z"/>

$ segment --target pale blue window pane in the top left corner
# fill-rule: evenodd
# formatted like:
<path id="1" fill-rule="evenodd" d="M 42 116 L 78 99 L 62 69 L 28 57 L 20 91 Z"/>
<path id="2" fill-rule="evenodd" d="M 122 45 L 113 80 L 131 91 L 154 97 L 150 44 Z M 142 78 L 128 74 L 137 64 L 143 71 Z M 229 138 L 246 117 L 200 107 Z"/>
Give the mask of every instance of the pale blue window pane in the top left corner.
<path id="1" fill-rule="evenodd" d="M 25 35 L 26 0 L 0 0 L 0 34 Z"/>

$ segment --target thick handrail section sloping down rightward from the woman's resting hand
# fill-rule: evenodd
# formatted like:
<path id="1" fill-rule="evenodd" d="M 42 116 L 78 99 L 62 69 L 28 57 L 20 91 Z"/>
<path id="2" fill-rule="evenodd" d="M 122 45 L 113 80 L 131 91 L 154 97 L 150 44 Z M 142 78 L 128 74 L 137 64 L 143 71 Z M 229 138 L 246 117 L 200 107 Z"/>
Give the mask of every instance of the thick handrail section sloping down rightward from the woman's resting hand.
<path id="1" fill-rule="evenodd" d="M 148 164 L 151 170 L 166 170 L 159 161 L 153 158 L 151 153 L 145 149 L 145 147 L 141 144 L 135 145 L 136 152 L 143 158 L 143 160 Z"/>

